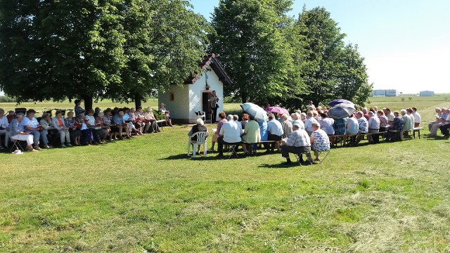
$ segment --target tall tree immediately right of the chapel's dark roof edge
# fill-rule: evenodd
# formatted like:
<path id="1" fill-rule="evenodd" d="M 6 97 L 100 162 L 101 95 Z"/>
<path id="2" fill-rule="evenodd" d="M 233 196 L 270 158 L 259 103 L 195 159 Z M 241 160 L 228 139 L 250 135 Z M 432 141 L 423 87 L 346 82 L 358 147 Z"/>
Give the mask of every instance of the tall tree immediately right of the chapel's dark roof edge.
<path id="1" fill-rule="evenodd" d="M 300 89 L 290 82 L 292 51 L 283 29 L 290 26 L 288 0 L 221 0 L 212 15 L 211 48 L 233 79 L 228 94 L 245 103 L 267 103 Z M 295 93 L 295 92 L 294 92 Z"/>

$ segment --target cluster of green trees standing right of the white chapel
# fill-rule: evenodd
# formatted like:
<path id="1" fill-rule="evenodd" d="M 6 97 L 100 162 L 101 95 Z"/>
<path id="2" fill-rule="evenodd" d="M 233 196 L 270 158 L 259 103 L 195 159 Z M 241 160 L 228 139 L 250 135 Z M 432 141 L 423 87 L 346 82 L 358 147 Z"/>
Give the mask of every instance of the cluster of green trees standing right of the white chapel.
<path id="1" fill-rule="evenodd" d="M 242 102 L 300 108 L 345 98 L 364 105 L 372 85 L 357 46 L 325 8 L 288 16 L 291 0 L 221 0 L 210 36 L 212 51 L 233 77 L 228 92 Z"/>

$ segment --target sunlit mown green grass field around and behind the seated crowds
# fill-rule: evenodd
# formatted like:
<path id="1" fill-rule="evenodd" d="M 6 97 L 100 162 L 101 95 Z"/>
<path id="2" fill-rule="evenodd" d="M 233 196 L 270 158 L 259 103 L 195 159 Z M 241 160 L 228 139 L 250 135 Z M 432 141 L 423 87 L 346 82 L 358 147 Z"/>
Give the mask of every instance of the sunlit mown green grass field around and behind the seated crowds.
<path id="1" fill-rule="evenodd" d="M 425 123 L 450 105 L 373 104 L 416 106 Z M 304 167 L 281 167 L 280 154 L 192 160 L 189 129 L 0 153 L 0 252 L 450 252 L 450 141 L 428 129 L 420 140 L 335 148 L 331 162 Z"/>

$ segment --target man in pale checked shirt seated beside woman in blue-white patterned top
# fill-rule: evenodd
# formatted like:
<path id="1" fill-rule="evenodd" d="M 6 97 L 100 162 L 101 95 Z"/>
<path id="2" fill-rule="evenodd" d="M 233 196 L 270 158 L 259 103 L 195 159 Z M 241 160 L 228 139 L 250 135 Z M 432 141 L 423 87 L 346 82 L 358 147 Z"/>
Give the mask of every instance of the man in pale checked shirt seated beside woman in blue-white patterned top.
<path id="1" fill-rule="evenodd" d="M 285 164 L 290 164 L 289 153 L 295 153 L 300 155 L 300 160 L 302 159 L 302 154 L 307 153 L 307 159 L 309 162 L 312 161 L 311 157 L 311 140 L 308 136 L 307 131 L 300 129 L 299 124 L 293 125 L 293 133 L 290 134 L 289 138 L 283 139 L 281 145 L 281 156 L 286 158 Z"/>

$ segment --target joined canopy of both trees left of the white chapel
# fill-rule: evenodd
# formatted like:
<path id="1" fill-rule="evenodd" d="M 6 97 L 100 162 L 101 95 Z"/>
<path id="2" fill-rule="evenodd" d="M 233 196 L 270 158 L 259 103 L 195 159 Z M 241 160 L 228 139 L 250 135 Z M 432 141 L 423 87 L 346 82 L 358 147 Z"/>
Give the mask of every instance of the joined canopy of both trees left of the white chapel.
<path id="1" fill-rule="evenodd" d="M 198 70 L 210 26 L 183 0 L 0 0 L 0 89 L 18 102 L 140 98 Z"/>

